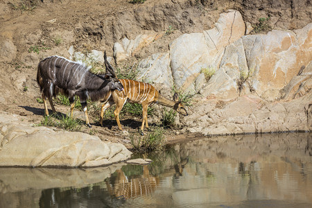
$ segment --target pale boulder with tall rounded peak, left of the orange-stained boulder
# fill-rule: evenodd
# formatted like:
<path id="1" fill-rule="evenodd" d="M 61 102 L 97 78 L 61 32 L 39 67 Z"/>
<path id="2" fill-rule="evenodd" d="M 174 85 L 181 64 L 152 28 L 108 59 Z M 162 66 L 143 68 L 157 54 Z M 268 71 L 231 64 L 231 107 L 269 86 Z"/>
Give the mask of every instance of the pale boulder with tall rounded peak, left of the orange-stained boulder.
<path id="1" fill-rule="evenodd" d="M 220 15 L 216 27 L 202 33 L 184 34 L 170 44 L 171 70 L 178 89 L 185 90 L 196 80 L 202 68 L 216 69 L 224 47 L 245 34 L 241 13 Z"/>

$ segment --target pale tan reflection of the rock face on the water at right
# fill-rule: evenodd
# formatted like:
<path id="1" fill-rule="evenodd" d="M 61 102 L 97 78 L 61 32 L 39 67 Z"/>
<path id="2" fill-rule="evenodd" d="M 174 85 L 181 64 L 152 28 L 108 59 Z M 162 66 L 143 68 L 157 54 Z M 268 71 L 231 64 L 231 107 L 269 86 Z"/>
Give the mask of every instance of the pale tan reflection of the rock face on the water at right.
<path id="1" fill-rule="evenodd" d="M 282 134 L 177 144 L 174 148 L 190 162 L 174 184 L 173 200 L 177 205 L 259 199 L 312 204 L 311 141 L 311 134 Z"/>

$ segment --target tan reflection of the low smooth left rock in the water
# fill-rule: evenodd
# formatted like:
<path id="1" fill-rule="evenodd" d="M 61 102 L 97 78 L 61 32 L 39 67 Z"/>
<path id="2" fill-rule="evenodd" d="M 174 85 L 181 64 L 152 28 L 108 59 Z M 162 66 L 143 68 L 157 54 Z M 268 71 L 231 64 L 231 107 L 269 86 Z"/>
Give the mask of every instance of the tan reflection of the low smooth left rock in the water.
<path id="1" fill-rule="evenodd" d="M 122 164 L 99 168 L 0 168 L 0 193 L 85 187 L 110 177 Z"/>

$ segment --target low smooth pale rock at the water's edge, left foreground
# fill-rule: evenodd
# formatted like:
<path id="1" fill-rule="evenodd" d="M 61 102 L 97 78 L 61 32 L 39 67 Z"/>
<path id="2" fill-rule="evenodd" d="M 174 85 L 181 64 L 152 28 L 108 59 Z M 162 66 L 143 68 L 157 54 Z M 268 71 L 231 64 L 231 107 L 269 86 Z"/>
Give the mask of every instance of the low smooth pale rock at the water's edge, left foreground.
<path id="1" fill-rule="evenodd" d="M 121 162 L 132 154 L 81 132 L 55 132 L 13 122 L 0 123 L 0 166 L 94 167 Z"/>

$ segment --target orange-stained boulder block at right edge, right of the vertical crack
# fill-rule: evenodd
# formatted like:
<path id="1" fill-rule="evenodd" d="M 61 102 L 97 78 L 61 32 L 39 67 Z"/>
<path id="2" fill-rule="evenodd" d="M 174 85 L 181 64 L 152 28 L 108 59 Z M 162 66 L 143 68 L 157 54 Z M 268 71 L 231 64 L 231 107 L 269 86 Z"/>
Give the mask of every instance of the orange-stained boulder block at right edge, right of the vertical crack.
<path id="1" fill-rule="evenodd" d="M 248 68 L 253 72 L 250 84 L 259 95 L 268 89 L 282 89 L 311 62 L 311 38 L 312 23 L 296 31 L 242 37 Z"/>

